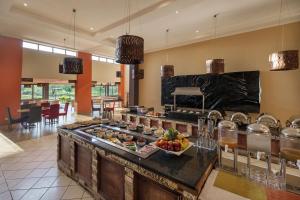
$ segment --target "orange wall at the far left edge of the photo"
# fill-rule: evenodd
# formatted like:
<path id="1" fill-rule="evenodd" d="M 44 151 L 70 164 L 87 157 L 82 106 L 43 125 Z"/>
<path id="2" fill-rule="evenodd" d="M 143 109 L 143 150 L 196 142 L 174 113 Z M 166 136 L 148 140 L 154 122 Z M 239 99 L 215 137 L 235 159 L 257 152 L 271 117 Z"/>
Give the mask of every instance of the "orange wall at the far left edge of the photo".
<path id="1" fill-rule="evenodd" d="M 5 123 L 6 107 L 19 116 L 21 74 L 22 41 L 0 36 L 0 124 Z"/>

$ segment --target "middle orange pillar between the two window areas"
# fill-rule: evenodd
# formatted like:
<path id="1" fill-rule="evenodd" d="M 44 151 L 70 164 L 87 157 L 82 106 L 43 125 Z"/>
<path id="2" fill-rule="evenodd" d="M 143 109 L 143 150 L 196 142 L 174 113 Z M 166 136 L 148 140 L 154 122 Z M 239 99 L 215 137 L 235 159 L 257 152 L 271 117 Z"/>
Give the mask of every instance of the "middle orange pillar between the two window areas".
<path id="1" fill-rule="evenodd" d="M 92 56 L 89 53 L 78 52 L 78 57 L 83 60 L 83 74 L 77 75 L 75 98 L 77 113 L 91 113 L 91 84 L 92 84 Z"/>

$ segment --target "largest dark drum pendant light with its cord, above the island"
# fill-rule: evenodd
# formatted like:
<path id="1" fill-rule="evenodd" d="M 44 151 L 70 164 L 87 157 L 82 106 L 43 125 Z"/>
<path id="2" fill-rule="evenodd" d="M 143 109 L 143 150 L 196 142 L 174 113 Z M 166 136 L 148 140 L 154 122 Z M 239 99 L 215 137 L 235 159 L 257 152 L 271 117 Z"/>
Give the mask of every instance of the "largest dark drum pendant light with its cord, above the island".
<path id="1" fill-rule="evenodd" d="M 141 64 L 144 62 L 144 39 L 130 35 L 130 0 L 128 0 L 128 32 L 117 38 L 116 63 Z"/>

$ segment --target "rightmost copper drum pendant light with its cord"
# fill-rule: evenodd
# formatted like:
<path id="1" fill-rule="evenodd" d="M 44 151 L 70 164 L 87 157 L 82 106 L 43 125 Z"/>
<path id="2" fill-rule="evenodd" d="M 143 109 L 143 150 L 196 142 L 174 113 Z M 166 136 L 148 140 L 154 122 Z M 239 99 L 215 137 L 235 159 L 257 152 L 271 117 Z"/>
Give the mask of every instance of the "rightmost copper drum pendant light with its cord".
<path id="1" fill-rule="evenodd" d="M 283 50 L 284 43 L 284 25 L 281 25 L 283 0 L 280 0 L 279 26 L 281 26 L 281 49 L 269 55 L 271 71 L 286 71 L 299 68 L 298 50 Z"/>

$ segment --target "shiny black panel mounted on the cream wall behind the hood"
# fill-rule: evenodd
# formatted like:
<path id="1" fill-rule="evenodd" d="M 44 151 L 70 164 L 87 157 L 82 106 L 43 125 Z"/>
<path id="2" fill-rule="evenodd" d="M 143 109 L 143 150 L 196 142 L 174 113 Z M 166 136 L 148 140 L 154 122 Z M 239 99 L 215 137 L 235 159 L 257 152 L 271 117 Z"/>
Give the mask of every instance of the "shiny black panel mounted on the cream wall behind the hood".
<path id="1" fill-rule="evenodd" d="M 259 71 L 224 74 L 173 76 L 162 79 L 161 103 L 173 104 L 176 87 L 200 87 L 205 95 L 205 109 L 259 112 Z M 201 108 L 202 97 L 177 96 L 180 107 Z"/>

